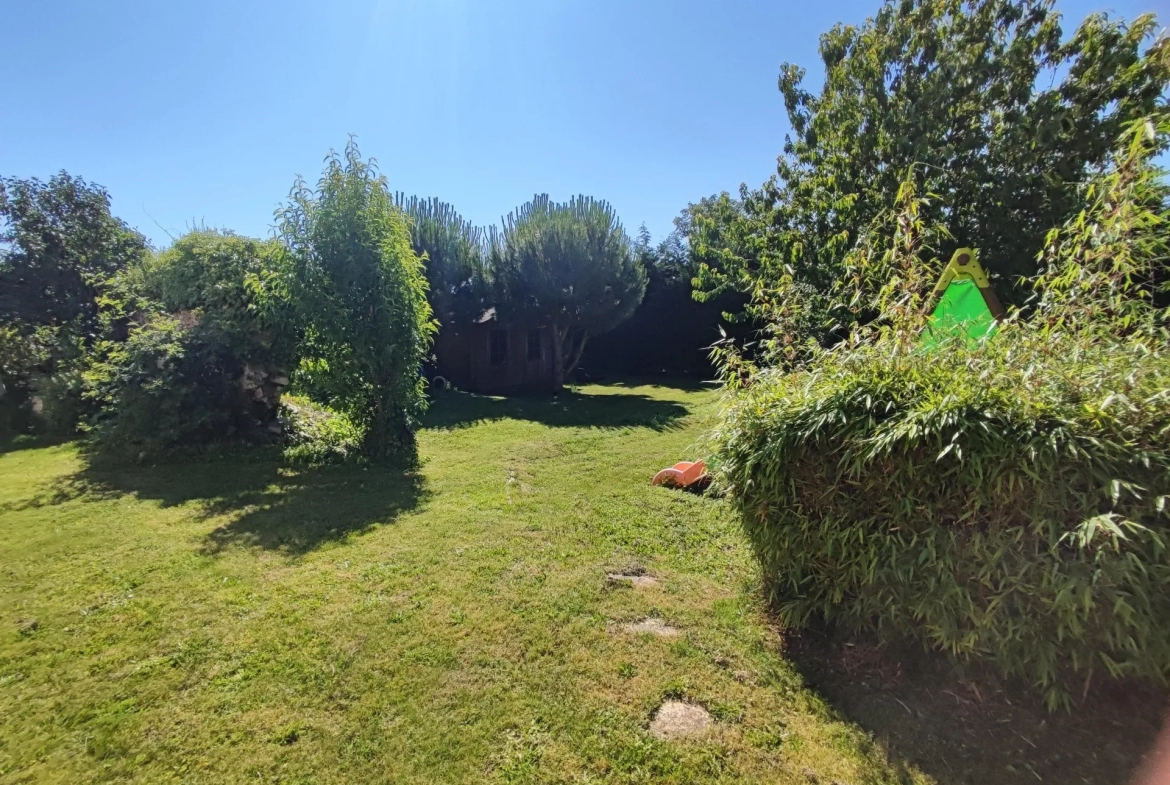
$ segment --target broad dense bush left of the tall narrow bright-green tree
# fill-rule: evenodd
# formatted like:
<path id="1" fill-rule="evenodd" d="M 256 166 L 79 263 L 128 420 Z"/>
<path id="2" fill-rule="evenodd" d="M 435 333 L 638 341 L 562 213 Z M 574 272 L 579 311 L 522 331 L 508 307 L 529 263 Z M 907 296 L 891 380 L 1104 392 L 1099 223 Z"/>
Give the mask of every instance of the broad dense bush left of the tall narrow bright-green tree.
<path id="1" fill-rule="evenodd" d="M 104 299 L 108 338 L 83 374 L 103 452 L 135 457 L 278 433 L 296 345 L 266 291 L 281 254 L 273 241 L 192 232 L 119 277 Z"/>

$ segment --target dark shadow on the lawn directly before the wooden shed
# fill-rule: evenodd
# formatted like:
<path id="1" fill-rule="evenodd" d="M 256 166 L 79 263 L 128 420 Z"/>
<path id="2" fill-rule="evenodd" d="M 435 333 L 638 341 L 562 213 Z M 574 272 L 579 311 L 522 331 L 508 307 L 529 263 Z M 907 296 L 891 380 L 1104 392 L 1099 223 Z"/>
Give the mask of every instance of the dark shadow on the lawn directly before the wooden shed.
<path id="1" fill-rule="evenodd" d="M 669 431 L 688 414 L 682 404 L 640 394 L 592 394 L 565 391 L 559 395 L 496 398 L 441 391 L 433 395 L 425 428 L 463 428 L 484 420 L 529 420 L 563 428 L 651 428 Z"/>

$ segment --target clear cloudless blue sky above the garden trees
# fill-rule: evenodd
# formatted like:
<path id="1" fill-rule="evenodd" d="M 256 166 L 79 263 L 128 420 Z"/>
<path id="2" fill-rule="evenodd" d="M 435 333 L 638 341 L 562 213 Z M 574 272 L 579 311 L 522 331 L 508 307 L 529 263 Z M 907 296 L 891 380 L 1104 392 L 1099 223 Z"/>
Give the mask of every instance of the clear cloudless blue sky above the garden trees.
<path id="1" fill-rule="evenodd" d="M 1165 0 L 1058 2 L 1133 19 Z M 879 0 L 0 0 L 0 174 L 66 168 L 156 245 L 267 236 L 356 133 L 391 187 L 497 221 L 536 192 L 655 237 L 775 171 L 782 62 Z M 157 225 L 156 225 L 157 221 Z"/>

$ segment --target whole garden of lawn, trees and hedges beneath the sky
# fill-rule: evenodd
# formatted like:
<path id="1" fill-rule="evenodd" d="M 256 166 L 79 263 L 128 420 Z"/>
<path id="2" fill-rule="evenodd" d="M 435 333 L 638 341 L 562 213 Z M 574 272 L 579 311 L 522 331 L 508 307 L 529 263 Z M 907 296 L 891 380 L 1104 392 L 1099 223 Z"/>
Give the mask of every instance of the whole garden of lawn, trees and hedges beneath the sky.
<path id="1" fill-rule="evenodd" d="M 0 179 L 0 780 L 1130 781 L 1170 39 L 1061 21 L 834 27 L 776 175 L 656 245 L 474 226 L 352 139 L 269 239 Z"/>

